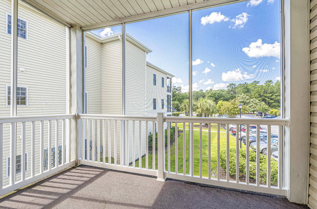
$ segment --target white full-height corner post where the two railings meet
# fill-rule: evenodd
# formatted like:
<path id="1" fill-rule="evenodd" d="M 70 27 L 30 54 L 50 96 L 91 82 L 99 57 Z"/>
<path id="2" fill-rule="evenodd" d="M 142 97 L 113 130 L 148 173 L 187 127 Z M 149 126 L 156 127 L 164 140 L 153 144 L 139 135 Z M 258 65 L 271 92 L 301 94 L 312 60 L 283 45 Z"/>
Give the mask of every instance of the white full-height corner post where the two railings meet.
<path id="1" fill-rule="evenodd" d="M 79 25 L 70 28 L 70 112 L 72 114 L 83 113 L 83 32 Z M 81 158 L 81 122 L 72 120 L 70 155 L 71 160 Z"/>

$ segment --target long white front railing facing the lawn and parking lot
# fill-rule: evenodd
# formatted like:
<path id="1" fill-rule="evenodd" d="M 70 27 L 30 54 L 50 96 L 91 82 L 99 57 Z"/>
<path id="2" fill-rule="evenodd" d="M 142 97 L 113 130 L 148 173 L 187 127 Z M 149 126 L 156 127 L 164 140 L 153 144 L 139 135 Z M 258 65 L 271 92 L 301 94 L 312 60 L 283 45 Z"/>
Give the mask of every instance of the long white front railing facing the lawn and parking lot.
<path id="1" fill-rule="evenodd" d="M 90 165 L 90 166 L 97 166 L 102 168 L 108 168 L 113 170 L 119 170 L 119 171 L 129 171 L 134 173 L 141 173 L 141 174 L 148 174 L 148 175 L 154 175 L 158 176 L 158 180 L 164 181 L 165 178 L 173 178 L 173 179 L 179 179 L 179 180 L 185 180 L 185 181 L 191 181 L 191 182 L 197 182 L 197 183 L 203 183 L 203 184 L 209 184 L 209 185 L 215 185 L 215 186 L 221 186 L 221 187 L 228 187 L 228 188 L 234 188 L 234 189 L 240 189 L 240 190 L 252 190 L 252 191 L 258 191 L 258 192 L 264 192 L 264 193 L 271 193 L 271 194 L 278 194 L 278 195 L 286 195 L 286 189 L 282 187 L 282 135 L 283 135 L 283 126 L 289 126 L 289 120 L 288 119 L 241 119 L 241 118 L 202 118 L 202 117 L 164 117 L 163 114 L 158 114 L 158 117 L 153 116 L 126 116 L 126 115 L 93 115 L 93 114 L 79 114 L 78 119 L 82 120 L 82 127 L 85 127 L 87 124 L 88 132 L 90 131 L 90 121 L 92 121 L 92 130 L 93 134 L 92 137 L 95 138 L 95 120 L 97 120 L 97 126 L 98 126 L 98 140 L 97 140 L 97 147 L 98 147 L 98 157 L 97 160 L 95 160 L 95 156 L 92 157 L 94 160 L 89 160 L 89 149 L 87 143 L 87 157 L 86 159 L 79 159 L 79 163 L 83 165 Z M 108 127 L 106 127 L 106 121 L 108 121 Z M 117 126 L 117 121 L 119 121 L 120 126 Z M 105 152 L 103 152 L 103 161 L 100 162 L 100 123 L 102 122 L 103 128 L 102 128 L 102 136 L 103 136 L 103 151 L 105 151 L 106 146 L 108 147 L 108 162 L 105 161 Z M 111 123 L 114 122 L 114 163 L 111 162 L 111 130 L 112 126 Z M 136 140 L 135 137 L 135 124 L 139 123 L 139 140 Z M 155 149 L 153 148 L 153 168 L 148 167 L 148 124 L 149 123 L 157 122 L 158 124 L 158 170 L 155 170 L 155 158 L 156 153 Z M 132 123 L 132 139 L 129 137 L 129 123 Z M 141 136 L 141 123 L 145 123 L 145 135 L 144 137 Z M 164 123 L 168 123 L 167 130 L 164 130 Z M 189 136 L 189 152 L 190 152 L 190 159 L 189 159 L 189 174 L 186 174 L 186 167 L 184 164 L 183 172 L 178 173 L 178 140 L 175 141 L 175 172 L 171 172 L 171 157 L 170 157 L 170 124 L 175 123 L 175 127 L 177 130 L 178 124 L 182 123 L 183 125 L 183 149 L 185 149 L 185 132 L 186 132 L 186 126 L 185 124 L 190 124 L 189 127 L 192 130 L 191 134 Z M 199 176 L 194 175 L 194 123 L 199 123 Z M 209 139 L 209 145 L 208 145 L 208 177 L 202 176 L 202 123 L 208 124 L 208 139 Z M 210 124 L 217 124 L 217 178 L 211 178 L 211 169 L 210 169 L 210 160 L 211 160 L 211 149 L 210 149 L 210 140 L 211 140 L 211 129 Z M 226 179 L 220 179 L 220 124 L 226 124 Z M 236 181 L 231 181 L 229 179 L 229 124 L 237 124 L 237 130 L 239 130 L 239 124 L 246 124 L 247 130 L 246 130 L 246 182 L 240 182 L 239 181 L 239 134 L 236 134 Z M 249 182 L 249 125 L 257 125 L 257 152 L 256 152 L 256 184 L 251 184 Z M 271 126 L 278 126 L 278 183 L 277 187 L 271 186 L 271 156 L 270 154 L 267 155 L 267 185 L 260 185 L 260 146 L 259 146 L 259 130 L 260 125 L 266 125 L 268 127 L 268 138 L 267 138 L 267 153 L 271 153 Z M 124 132 L 125 127 L 125 132 Z M 106 129 L 108 130 L 108 135 L 106 136 Z M 116 134 L 119 129 L 119 136 Z M 167 131 L 168 134 L 168 146 L 167 151 L 165 151 L 164 146 L 164 131 Z M 175 131 L 175 138 L 178 138 L 178 132 Z M 85 128 L 82 130 L 82 144 L 84 144 L 85 140 Z M 90 141 L 90 133 L 87 133 L 88 141 Z M 136 152 L 136 145 L 141 144 L 141 139 L 145 140 L 146 146 L 145 146 L 145 168 L 141 167 L 141 158 L 142 158 L 142 149 L 139 149 L 139 167 L 135 166 L 135 152 Z M 108 139 L 108 140 L 107 140 Z M 117 141 L 119 140 L 119 144 L 117 144 Z M 125 140 L 125 141 L 124 141 Z M 130 140 L 132 140 L 132 147 L 129 147 Z M 94 142 L 92 142 L 94 143 Z M 119 156 L 120 160 L 117 161 L 117 146 L 119 146 Z M 153 146 L 155 146 L 155 137 L 153 137 Z M 141 146 L 140 146 L 141 147 Z M 92 154 L 95 154 L 95 145 L 92 146 Z M 129 153 L 132 152 L 132 166 L 130 165 L 129 160 Z M 167 171 L 165 171 L 165 152 L 167 152 Z M 84 153 L 84 148 L 82 148 L 82 153 Z M 185 153 L 185 150 L 183 151 Z M 183 154 L 183 162 L 186 162 L 186 155 Z M 88 160 L 87 160 L 88 159 Z M 125 160 L 123 160 L 125 159 Z M 173 159 L 174 160 L 174 159 Z"/>

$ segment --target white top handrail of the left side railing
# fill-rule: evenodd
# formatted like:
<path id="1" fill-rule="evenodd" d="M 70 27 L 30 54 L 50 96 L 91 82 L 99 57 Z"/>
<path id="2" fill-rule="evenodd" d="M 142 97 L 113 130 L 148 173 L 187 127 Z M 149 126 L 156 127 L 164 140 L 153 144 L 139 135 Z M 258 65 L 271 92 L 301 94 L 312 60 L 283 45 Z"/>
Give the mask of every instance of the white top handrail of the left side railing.
<path id="1" fill-rule="evenodd" d="M 0 117 L 0 123 L 19 123 L 41 120 L 74 119 L 75 114 L 27 115 Z"/>

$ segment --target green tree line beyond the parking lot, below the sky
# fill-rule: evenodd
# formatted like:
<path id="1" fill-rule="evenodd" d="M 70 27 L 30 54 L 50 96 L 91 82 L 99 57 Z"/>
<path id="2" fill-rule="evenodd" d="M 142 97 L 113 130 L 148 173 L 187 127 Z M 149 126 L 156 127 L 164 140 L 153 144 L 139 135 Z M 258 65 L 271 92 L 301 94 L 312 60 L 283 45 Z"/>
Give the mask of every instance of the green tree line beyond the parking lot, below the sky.
<path id="1" fill-rule="evenodd" d="M 239 114 L 238 104 L 243 104 L 242 113 L 263 113 L 280 108 L 280 81 L 259 81 L 251 83 L 230 83 L 227 89 L 193 91 L 193 111 L 198 116 L 227 114 L 230 117 Z M 173 87 L 173 107 L 179 112 L 188 113 L 189 94 L 182 93 L 181 87 Z"/>

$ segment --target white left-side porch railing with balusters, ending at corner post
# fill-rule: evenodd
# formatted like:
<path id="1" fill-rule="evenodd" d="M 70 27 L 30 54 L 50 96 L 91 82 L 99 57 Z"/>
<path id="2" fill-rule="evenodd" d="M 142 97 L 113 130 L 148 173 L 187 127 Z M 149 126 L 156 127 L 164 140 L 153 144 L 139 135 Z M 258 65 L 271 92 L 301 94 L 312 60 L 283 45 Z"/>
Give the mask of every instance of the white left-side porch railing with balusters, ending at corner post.
<path id="1" fill-rule="evenodd" d="M 3 187 L 2 171 L 0 172 L 0 196 L 6 194 L 10 191 L 24 187 L 30 183 L 40 180 L 46 176 L 54 174 L 61 171 L 74 164 L 74 160 L 70 158 L 70 123 L 71 119 L 75 118 L 75 114 L 61 114 L 61 115 L 36 115 L 36 116 L 14 116 L 14 117 L 0 117 L 0 168 L 3 169 L 3 125 L 10 125 L 10 175 L 9 175 L 9 185 Z M 59 147 L 59 120 L 62 121 L 62 149 L 61 164 L 59 165 L 59 158 L 55 157 L 55 167 L 51 168 L 51 147 L 52 147 L 52 121 L 55 121 L 55 147 Z M 43 171 L 43 151 L 44 151 L 44 121 L 48 123 L 48 133 L 47 136 L 47 150 L 48 150 L 48 160 L 47 160 L 47 171 Z M 36 126 L 35 123 L 40 122 L 40 144 L 36 145 Z M 20 181 L 16 180 L 16 155 L 18 153 L 16 147 L 16 135 L 17 135 L 17 125 L 21 124 L 21 150 L 20 150 Z M 30 177 L 25 177 L 25 142 L 26 142 L 26 123 L 31 124 L 31 175 Z M 66 132 L 66 133 L 65 133 Z M 40 147 L 40 153 L 36 153 L 36 147 Z M 36 154 L 40 155 L 40 160 L 36 161 Z M 65 159 L 65 161 L 64 161 Z M 36 174 L 36 165 L 40 165 L 40 171 Z M 7 167 L 8 168 L 8 167 Z"/>

